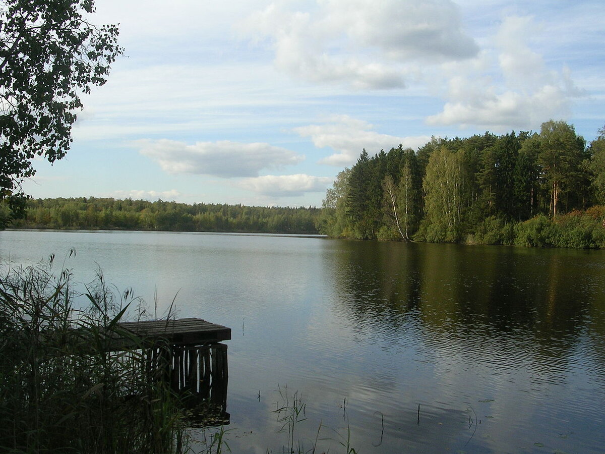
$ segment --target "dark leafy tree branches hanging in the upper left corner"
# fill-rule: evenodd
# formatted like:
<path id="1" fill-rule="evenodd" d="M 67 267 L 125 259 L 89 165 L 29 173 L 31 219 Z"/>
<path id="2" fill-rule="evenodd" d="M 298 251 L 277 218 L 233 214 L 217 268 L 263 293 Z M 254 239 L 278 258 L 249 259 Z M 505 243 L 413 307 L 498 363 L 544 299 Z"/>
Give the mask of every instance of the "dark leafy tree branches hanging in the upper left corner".
<path id="1" fill-rule="evenodd" d="M 0 200 L 21 194 L 31 160 L 70 149 L 80 95 L 103 85 L 122 49 L 93 0 L 0 1 Z"/>

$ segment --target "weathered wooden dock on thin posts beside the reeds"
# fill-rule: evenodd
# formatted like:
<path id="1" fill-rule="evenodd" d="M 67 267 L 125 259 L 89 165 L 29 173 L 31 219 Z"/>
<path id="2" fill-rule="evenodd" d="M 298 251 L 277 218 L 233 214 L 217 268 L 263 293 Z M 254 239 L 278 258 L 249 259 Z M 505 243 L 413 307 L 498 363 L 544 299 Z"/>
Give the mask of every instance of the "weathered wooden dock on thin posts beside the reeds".
<path id="1" fill-rule="evenodd" d="M 191 409 L 203 404 L 217 422 L 229 423 L 227 346 L 220 342 L 231 339 L 231 328 L 201 318 L 129 321 L 119 326 L 149 344 L 145 356 L 150 373 L 163 369 L 162 380 L 185 394 Z"/>

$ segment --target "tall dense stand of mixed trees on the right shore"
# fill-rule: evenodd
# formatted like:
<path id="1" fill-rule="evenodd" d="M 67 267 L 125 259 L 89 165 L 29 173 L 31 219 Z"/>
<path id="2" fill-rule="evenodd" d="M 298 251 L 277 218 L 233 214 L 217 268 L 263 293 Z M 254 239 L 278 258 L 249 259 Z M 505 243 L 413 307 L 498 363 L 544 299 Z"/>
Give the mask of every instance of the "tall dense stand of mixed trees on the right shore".
<path id="1" fill-rule="evenodd" d="M 327 192 L 331 237 L 605 248 L 605 128 L 434 138 L 419 150 L 363 151 Z"/>

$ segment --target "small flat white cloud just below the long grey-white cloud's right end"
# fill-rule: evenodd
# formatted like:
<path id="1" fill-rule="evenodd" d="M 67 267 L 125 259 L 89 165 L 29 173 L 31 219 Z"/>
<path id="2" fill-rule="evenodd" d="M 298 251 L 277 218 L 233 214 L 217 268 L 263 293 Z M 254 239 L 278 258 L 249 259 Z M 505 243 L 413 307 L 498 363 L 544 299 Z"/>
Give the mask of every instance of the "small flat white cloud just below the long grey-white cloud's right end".
<path id="1" fill-rule="evenodd" d="M 263 196 L 287 197 L 302 196 L 306 192 L 324 192 L 331 184 L 332 178 L 329 177 L 296 174 L 246 178 L 238 182 L 237 186 Z"/>

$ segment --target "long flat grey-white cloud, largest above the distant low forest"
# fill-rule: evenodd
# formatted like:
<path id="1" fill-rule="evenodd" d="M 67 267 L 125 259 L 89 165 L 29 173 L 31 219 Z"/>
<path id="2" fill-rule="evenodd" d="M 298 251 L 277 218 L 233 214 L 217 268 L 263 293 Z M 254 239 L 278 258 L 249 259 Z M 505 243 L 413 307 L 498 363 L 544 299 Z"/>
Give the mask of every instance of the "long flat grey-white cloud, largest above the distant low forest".
<path id="1" fill-rule="evenodd" d="M 223 178 L 255 177 L 261 169 L 295 165 L 304 156 L 268 143 L 230 140 L 187 145 L 176 140 L 137 140 L 139 153 L 159 163 L 168 173 L 191 173 Z"/>

